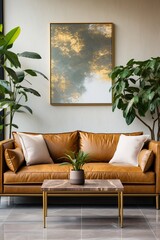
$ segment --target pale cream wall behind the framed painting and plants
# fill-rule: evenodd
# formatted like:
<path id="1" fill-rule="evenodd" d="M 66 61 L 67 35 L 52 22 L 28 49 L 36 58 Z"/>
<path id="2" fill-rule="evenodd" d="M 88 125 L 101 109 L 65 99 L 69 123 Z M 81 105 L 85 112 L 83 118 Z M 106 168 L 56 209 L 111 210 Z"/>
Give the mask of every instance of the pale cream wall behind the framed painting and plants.
<path id="1" fill-rule="evenodd" d="M 15 50 L 40 53 L 42 60 L 26 66 L 50 76 L 51 22 L 113 22 L 115 25 L 115 64 L 129 59 L 160 56 L 159 0 L 4 0 L 5 32 L 22 29 Z M 34 79 L 33 88 L 41 98 L 31 96 L 34 114 L 19 114 L 19 131 L 62 132 L 81 129 L 93 132 L 148 130 L 137 120 L 127 126 L 122 112 L 111 106 L 51 106 L 49 81 Z M 95 89 L 96 94 L 96 89 Z"/>

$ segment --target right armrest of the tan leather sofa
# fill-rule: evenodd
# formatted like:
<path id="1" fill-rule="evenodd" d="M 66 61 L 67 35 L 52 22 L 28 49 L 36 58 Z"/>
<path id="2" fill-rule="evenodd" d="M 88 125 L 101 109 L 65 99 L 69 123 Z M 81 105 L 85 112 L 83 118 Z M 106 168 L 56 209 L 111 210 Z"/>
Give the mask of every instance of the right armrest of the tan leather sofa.
<path id="1" fill-rule="evenodd" d="M 149 141 L 148 149 L 155 154 L 156 193 L 160 194 L 160 142 Z"/>

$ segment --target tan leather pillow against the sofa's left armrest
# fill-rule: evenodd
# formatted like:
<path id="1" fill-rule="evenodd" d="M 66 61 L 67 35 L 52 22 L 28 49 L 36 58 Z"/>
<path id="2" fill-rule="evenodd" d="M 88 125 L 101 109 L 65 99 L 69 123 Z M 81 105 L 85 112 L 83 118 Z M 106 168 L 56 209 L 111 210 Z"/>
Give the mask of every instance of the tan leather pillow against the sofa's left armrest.
<path id="1" fill-rule="evenodd" d="M 24 162 L 24 155 L 22 150 L 20 148 L 6 149 L 5 160 L 8 168 L 13 172 L 17 172 L 19 167 Z"/>

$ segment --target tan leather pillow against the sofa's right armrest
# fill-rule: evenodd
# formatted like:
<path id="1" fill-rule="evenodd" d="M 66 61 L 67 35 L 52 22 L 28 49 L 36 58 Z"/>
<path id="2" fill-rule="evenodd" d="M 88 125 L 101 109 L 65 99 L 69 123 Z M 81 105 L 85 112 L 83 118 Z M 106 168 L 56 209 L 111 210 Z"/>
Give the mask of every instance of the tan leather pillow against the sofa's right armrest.
<path id="1" fill-rule="evenodd" d="M 151 167 L 154 159 L 154 153 L 148 149 L 142 149 L 138 154 L 138 164 L 142 169 L 142 172 L 147 172 Z"/>

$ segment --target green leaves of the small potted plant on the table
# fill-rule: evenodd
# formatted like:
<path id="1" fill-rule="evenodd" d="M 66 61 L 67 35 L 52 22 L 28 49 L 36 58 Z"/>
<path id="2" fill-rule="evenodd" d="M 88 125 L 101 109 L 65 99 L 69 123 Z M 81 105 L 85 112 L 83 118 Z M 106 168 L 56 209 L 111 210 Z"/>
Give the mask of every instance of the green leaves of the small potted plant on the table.
<path id="1" fill-rule="evenodd" d="M 70 154 L 65 154 L 65 158 L 68 159 L 69 162 L 63 162 L 61 165 L 72 164 L 72 170 L 80 171 L 88 158 L 88 154 L 83 151 L 79 151 L 78 153 L 71 152 Z"/>

